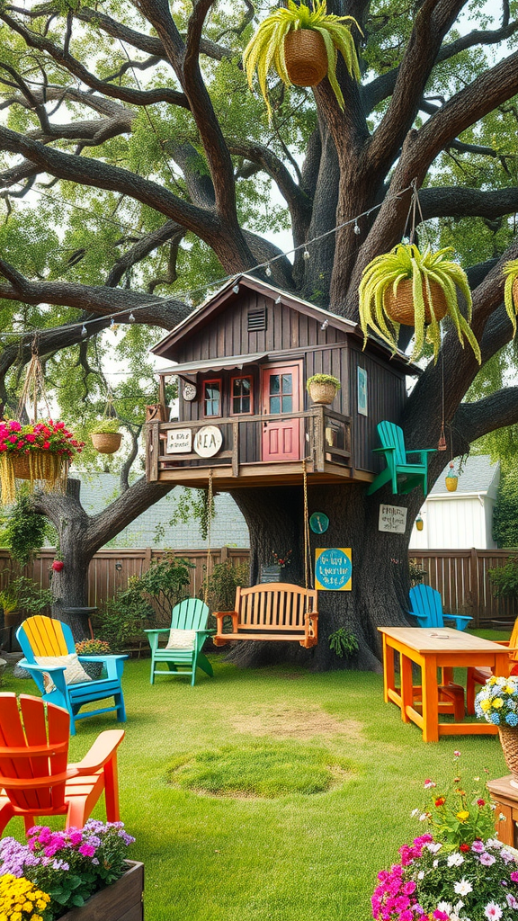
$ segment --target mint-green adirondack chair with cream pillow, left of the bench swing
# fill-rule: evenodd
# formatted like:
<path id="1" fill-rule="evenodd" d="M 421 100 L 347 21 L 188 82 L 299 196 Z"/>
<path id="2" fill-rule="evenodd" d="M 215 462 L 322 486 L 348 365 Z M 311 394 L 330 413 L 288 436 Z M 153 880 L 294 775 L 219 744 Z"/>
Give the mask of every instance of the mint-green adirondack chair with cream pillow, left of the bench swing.
<path id="1" fill-rule="evenodd" d="M 172 609 L 171 627 L 146 631 L 151 647 L 151 684 L 155 683 L 155 675 L 191 675 L 191 686 L 194 687 L 197 668 L 206 671 L 212 678 L 212 665 L 202 652 L 206 637 L 215 632 L 206 629 L 208 613 L 204 601 L 187 598 Z M 159 636 L 170 634 L 171 630 L 178 631 L 173 640 L 178 642 L 178 647 L 159 647 Z M 157 668 L 160 662 L 164 662 L 168 670 Z"/>

